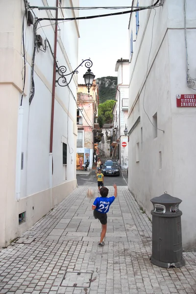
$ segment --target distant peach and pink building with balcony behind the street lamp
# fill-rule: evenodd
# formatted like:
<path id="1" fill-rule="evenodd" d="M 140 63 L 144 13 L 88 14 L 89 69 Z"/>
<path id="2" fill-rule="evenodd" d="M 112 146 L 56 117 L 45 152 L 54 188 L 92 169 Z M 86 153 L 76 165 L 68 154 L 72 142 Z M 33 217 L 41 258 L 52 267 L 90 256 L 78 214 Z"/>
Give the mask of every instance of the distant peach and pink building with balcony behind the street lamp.
<path id="1" fill-rule="evenodd" d="M 77 154 L 76 169 L 80 170 L 81 163 L 87 160 L 92 169 L 94 155 L 94 122 L 98 115 L 98 86 L 94 80 L 90 93 L 85 85 L 78 85 L 77 93 Z"/>

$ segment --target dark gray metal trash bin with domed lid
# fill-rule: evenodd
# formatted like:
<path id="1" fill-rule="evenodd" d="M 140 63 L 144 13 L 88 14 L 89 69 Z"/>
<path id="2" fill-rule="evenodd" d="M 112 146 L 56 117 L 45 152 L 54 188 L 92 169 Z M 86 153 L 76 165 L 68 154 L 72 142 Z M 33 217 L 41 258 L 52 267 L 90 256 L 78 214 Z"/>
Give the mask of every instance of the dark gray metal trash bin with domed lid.
<path id="1" fill-rule="evenodd" d="M 179 204 L 181 199 L 165 193 L 150 200 L 152 215 L 151 263 L 161 268 L 180 268 L 185 265 L 182 257 L 182 232 Z"/>

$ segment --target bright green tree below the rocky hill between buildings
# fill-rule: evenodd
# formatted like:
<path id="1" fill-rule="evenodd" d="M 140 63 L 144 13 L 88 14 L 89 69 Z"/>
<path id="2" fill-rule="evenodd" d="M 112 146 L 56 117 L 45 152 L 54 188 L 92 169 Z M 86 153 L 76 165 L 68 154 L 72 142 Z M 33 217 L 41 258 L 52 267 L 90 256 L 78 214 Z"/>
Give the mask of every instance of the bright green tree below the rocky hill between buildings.
<path id="1" fill-rule="evenodd" d="M 114 100 L 107 100 L 103 103 L 100 103 L 98 105 L 98 120 L 99 117 L 102 117 L 100 120 L 103 119 L 104 123 L 111 123 L 113 121 L 112 109 L 115 103 L 116 101 Z"/>

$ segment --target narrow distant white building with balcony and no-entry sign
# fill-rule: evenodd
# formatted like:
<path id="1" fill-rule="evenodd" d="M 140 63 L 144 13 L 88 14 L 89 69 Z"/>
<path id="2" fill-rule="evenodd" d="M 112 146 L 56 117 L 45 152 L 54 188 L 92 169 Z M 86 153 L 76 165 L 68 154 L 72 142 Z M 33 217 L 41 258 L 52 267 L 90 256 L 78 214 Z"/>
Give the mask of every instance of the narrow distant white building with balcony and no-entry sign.
<path id="1" fill-rule="evenodd" d="M 118 59 L 115 71 L 118 73 L 118 86 L 113 107 L 112 157 L 118 159 L 122 169 L 127 169 L 128 137 L 124 136 L 124 129 L 128 116 L 129 60 Z"/>

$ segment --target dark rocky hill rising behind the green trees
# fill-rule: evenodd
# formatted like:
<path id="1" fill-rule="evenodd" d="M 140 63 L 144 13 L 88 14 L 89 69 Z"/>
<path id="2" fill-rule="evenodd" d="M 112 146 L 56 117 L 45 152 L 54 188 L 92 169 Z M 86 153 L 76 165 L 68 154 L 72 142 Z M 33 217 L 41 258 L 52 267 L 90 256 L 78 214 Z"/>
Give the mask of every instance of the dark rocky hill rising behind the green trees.
<path id="1" fill-rule="evenodd" d="M 117 76 L 103 76 L 96 79 L 99 90 L 99 103 L 106 100 L 115 100 L 117 89 Z"/>

